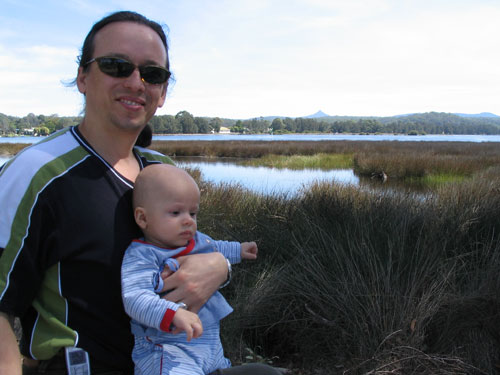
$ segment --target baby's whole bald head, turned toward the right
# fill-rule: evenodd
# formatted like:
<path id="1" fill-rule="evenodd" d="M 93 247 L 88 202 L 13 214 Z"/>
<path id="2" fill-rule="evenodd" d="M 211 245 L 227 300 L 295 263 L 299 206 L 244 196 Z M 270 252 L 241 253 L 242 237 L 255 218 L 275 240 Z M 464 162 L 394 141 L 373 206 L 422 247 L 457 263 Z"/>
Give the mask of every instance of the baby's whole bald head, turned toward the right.
<path id="1" fill-rule="evenodd" d="M 134 217 L 145 240 L 156 246 L 185 246 L 197 230 L 200 190 L 184 170 L 169 164 L 144 168 L 134 185 Z"/>

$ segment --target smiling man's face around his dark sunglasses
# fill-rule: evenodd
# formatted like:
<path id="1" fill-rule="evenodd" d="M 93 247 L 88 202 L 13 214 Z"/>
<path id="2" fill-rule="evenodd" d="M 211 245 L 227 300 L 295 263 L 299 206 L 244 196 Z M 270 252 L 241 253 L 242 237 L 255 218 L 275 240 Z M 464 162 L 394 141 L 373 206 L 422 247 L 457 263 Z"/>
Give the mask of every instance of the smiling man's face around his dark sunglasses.
<path id="1" fill-rule="evenodd" d="M 135 65 L 165 66 L 167 55 L 158 34 L 134 22 L 115 22 L 95 36 L 92 58 L 114 56 Z M 99 70 L 96 62 L 86 72 L 78 71 L 78 89 L 85 94 L 85 117 L 99 126 L 112 126 L 138 132 L 165 102 L 165 84 L 141 80 L 139 70 L 124 78 L 110 77 Z"/>

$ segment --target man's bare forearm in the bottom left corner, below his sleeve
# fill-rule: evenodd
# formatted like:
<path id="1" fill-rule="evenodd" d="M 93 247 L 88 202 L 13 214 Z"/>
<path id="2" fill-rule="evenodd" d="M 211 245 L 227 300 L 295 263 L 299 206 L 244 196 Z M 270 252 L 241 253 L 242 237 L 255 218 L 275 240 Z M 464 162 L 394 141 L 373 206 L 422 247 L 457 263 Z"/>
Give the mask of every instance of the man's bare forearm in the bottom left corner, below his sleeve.
<path id="1" fill-rule="evenodd" d="M 0 313 L 0 375 L 21 375 L 21 354 L 9 317 Z"/>

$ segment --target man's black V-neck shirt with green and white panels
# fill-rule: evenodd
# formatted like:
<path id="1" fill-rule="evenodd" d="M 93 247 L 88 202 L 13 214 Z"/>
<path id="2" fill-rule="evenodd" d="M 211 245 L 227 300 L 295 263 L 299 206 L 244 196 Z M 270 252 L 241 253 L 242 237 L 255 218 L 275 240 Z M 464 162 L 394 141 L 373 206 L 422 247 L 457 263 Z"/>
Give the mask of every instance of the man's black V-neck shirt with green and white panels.
<path id="1" fill-rule="evenodd" d="M 172 163 L 134 152 L 141 168 Z M 120 294 L 123 253 L 140 236 L 132 188 L 77 127 L 24 149 L 0 171 L 0 311 L 21 318 L 24 355 L 48 359 L 76 345 L 132 368 Z"/>

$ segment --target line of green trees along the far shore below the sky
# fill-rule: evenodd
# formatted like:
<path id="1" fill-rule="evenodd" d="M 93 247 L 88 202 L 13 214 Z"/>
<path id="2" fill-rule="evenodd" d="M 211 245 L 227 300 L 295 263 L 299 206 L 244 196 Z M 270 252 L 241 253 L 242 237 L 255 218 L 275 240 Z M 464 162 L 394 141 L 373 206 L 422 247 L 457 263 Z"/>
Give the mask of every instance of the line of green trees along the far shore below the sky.
<path id="1" fill-rule="evenodd" d="M 0 113 L 0 135 L 48 135 L 77 125 L 81 117 L 28 114 L 14 117 Z M 429 112 L 397 117 L 260 117 L 248 120 L 196 117 L 187 111 L 154 116 L 149 125 L 155 134 L 210 134 L 226 127 L 232 133 L 355 133 L 355 134 L 500 134 L 498 117 L 461 117 Z"/>

